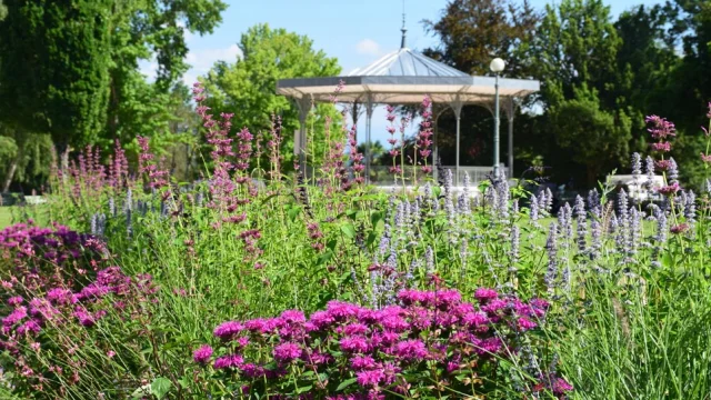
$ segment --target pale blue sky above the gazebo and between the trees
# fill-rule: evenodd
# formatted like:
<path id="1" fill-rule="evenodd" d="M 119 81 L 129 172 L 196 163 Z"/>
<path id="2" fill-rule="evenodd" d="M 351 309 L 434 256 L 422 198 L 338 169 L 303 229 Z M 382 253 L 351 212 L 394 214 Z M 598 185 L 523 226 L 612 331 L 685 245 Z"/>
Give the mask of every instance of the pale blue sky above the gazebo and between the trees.
<path id="1" fill-rule="evenodd" d="M 447 0 L 404 0 L 408 28 L 408 47 L 423 49 L 434 46 L 437 39 L 424 32 L 421 21 L 437 20 Z M 188 37 L 192 69 L 186 74 L 188 83 L 209 71 L 218 60 L 234 61 L 239 57 L 240 36 L 249 27 L 267 22 L 273 28 L 306 34 L 317 49 L 336 57 L 343 72 L 363 67 L 400 46 L 402 0 L 227 0 L 228 10 L 222 24 L 210 36 Z M 543 8 L 549 0 L 531 0 L 535 8 Z M 654 4 L 658 0 L 605 0 L 613 18 L 635 4 Z M 151 74 L 154 66 L 143 63 Z M 264 110 L 269 112 L 269 110 Z M 239 113 L 236 116 L 239 121 Z M 239 123 L 239 122 L 238 122 Z M 383 140 L 384 112 L 373 116 L 373 140 Z M 363 128 L 359 127 L 363 132 Z"/>

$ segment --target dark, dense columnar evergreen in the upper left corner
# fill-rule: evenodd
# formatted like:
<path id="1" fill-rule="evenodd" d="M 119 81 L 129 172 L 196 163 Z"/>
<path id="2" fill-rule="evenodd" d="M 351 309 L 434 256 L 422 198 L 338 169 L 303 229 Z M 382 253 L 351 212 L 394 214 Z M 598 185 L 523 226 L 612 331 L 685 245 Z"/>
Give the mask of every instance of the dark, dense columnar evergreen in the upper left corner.
<path id="1" fill-rule="evenodd" d="M 0 22 L 0 119 L 60 146 L 103 129 L 111 63 L 110 0 L 13 1 Z"/>

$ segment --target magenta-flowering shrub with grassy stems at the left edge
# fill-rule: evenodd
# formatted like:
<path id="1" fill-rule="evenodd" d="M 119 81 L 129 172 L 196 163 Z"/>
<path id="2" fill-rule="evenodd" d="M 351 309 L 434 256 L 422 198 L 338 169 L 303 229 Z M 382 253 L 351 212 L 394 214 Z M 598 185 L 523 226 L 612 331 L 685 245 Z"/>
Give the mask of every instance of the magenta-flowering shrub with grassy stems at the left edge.
<path id="1" fill-rule="evenodd" d="M 140 338 L 158 290 L 151 277 L 99 269 L 92 257 L 103 247 L 66 227 L 13 226 L 2 231 L 2 243 L 12 268 L 1 289 L 0 363 L 13 393 L 53 399 L 132 391 L 147 364 Z"/>

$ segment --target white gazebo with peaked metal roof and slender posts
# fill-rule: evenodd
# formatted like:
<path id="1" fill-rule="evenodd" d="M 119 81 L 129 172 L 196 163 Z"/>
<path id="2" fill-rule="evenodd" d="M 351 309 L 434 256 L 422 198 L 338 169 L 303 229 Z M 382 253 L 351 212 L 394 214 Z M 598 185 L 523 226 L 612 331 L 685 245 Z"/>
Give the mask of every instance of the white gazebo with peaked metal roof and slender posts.
<path id="1" fill-rule="evenodd" d="M 368 67 L 357 69 L 342 77 L 328 78 L 294 78 L 282 79 L 277 82 L 277 93 L 291 97 L 299 107 L 300 130 L 294 143 L 303 160 L 307 148 L 306 119 L 316 102 L 330 102 L 336 87 L 343 81 L 344 87 L 338 94 L 341 103 L 362 104 L 365 110 L 365 177 L 370 177 L 370 138 L 373 108 L 377 104 L 415 104 L 423 97 L 430 96 L 432 104 L 439 106 L 434 112 L 433 122 L 447 109 L 452 109 L 457 118 L 457 183 L 460 184 L 460 117 L 465 104 L 479 104 L 488 108 L 492 113 L 495 94 L 497 78 L 474 77 L 459 71 L 442 62 L 428 58 L 405 46 L 407 29 L 402 28 L 400 49 L 383 56 Z M 503 110 L 509 119 L 509 153 L 508 174 L 511 177 L 513 167 L 513 117 L 519 100 L 540 90 L 537 80 L 498 79 L 499 97 Z M 353 122 L 358 112 L 353 112 Z M 433 158 L 437 160 L 438 144 L 434 134 Z M 303 162 L 301 163 L 302 168 Z M 492 167 L 484 168 L 490 171 Z M 475 179 L 474 179 L 475 180 Z"/>

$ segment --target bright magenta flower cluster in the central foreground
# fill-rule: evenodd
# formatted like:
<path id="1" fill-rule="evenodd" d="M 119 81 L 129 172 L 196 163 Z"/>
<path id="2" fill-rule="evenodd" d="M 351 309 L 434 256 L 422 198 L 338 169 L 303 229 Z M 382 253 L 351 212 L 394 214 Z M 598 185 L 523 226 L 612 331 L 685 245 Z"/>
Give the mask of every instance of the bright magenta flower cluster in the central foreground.
<path id="1" fill-rule="evenodd" d="M 465 393 L 471 386 L 458 386 L 455 377 L 493 377 L 499 360 L 517 357 L 517 342 L 549 308 L 544 300 L 523 302 L 492 289 L 477 290 L 473 302 L 463 301 L 457 290 L 403 290 L 398 300 L 398 306 L 377 310 L 331 301 L 308 319 L 288 310 L 277 318 L 228 321 L 213 331 L 222 353 L 202 346 L 193 358 L 211 366 L 219 379 L 260 396 L 293 396 L 294 380 L 300 387 L 310 384 L 308 394 L 319 398 L 424 394 L 432 389 L 417 384 L 422 373 L 447 382 L 457 390 L 452 393 Z M 548 377 L 530 388 L 563 397 L 572 388 L 562 390 L 561 382 Z"/>

